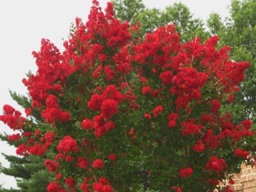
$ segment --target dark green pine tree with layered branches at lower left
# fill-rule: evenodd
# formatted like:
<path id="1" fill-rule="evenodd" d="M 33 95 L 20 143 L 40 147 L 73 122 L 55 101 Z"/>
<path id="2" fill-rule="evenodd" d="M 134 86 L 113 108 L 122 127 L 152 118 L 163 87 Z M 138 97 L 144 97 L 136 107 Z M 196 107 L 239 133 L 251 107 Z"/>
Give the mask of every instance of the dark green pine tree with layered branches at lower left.
<path id="1" fill-rule="evenodd" d="M 19 95 L 15 92 L 10 92 L 13 100 L 17 101 L 17 104 L 22 108 L 29 108 L 31 106 L 31 100 L 24 95 Z M 39 113 L 36 111 L 33 113 L 33 118 L 37 122 L 42 120 Z M 6 141 L 9 145 L 17 147 L 22 140 L 17 142 L 10 142 L 7 134 L 1 134 L 0 139 Z M 0 187 L 0 191 L 3 192 L 15 192 L 15 191 L 45 191 L 52 174 L 47 172 L 44 166 L 44 158 L 29 156 L 29 157 L 17 157 L 3 154 L 4 158 L 10 163 L 9 168 L 1 166 L 0 172 L 5 175 L 15 177 L 17 180 L 17 187 L 19 189 L 4 189 Z"/>

